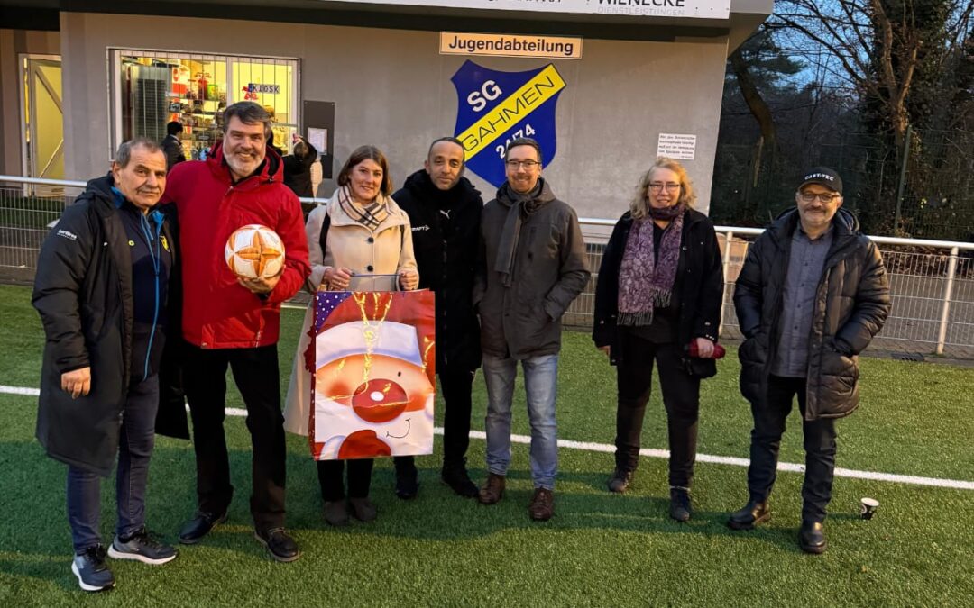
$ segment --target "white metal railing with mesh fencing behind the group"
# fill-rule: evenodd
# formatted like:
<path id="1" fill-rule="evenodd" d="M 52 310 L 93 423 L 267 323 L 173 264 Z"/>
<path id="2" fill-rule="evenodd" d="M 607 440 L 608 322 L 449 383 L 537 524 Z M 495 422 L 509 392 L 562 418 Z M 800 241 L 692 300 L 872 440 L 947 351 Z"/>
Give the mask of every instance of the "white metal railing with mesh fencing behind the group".
<path id="1" fill-rule="evenodd" d="M 0 175 L 0 279 L 33 280 L 37 251 L 64 206 L 85 182 Z M 70 194 L 69 194 L 70 193 Z M 301 198 L 320 204 L 323 198 Z M 592 321 L 602 245 L 616 220 L 581 218 L 592 280 L 566 322 Z M 721 335 L 739 338 L 732 294 L 747 247 L 760 228 L 716 227 L 724 254 Z M 974 243 L 873 236 L 889 271 L 893 311 L 878 337 L 882 348 L 974 357 Z M 893 247 L 892 249 L 890 247 Z M 923 251 L 902 250 L 923 248 Z"/>

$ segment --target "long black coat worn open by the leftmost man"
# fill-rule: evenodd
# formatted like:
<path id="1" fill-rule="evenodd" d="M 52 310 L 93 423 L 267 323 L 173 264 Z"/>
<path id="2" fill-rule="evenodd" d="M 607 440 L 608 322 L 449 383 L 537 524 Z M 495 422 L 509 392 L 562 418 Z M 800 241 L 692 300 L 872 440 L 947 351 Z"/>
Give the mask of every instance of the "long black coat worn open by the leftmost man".
<path id="1" fill-rule="evenodd" d="M 64 210 L 41 246 L 32 299 L 47 335 L 37 439 L 52 458 L 104 477 L 118 454 L 133 318 L 129 237 L 111 186 L 111 176 L 90 181 Z M 169 216 L 163 234 L 175 266 Z M 72 399 L 60 376 L 85 367 L 91 392 Z"/>

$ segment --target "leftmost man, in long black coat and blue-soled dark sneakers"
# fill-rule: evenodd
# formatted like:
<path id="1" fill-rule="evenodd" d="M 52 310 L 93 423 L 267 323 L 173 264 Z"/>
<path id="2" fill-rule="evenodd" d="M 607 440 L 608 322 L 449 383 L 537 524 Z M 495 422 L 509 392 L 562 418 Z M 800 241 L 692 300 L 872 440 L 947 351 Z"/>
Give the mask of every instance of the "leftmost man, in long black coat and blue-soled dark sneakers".
<path id="1" fill-rule="evenodd" d="M 115 586 L 106 554 L 152 564 L 176 556 L 145 528 L 175 255 L 169 219 L 157 208 L 165 187 L 159 146 L 122 144 L 111 172 L 64 210 L 37 263 L 33 304 L 47 335 L 37 439 L 68 465 L 71 571 L 88 591 Z M 118 522 L 106 552 L 99 478 L 111 475 L 116 454 Z"/>

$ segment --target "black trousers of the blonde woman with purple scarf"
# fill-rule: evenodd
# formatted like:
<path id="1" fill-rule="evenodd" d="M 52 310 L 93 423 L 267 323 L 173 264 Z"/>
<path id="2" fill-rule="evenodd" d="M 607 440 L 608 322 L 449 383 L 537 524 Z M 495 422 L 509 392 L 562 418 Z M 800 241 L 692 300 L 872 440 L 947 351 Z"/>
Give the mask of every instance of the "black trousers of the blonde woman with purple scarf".
<path id="1" fill-rule="evenodd" d="M 619 338 L 622 352 L 617 370 L 616 467 L 635 471 L 639 464 L 643 417 L 656 361 L 669 435 L 669 484 L 690 487 L 696 460 L 700 378 L 687 373 L 682 365 L 683 349 L 675 343 L 656 344 L 631 334 L 621 334 Z"/>

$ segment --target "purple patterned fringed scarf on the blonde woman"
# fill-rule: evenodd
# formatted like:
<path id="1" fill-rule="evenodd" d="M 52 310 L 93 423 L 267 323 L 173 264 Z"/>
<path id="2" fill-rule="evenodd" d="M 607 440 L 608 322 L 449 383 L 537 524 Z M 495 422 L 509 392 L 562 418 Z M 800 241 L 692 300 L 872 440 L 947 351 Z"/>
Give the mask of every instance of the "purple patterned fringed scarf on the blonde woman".
<path id="1" fill-rule="evenodd" d="M 665 308 L 673 295 L 680 261 L 685 205 L 650 209 L 651 217 L 633 220 L 618 269 L 618 325 L 648 326 L 653 309 Z M 653 218 L 672 219 L 654 255 Z"/>

